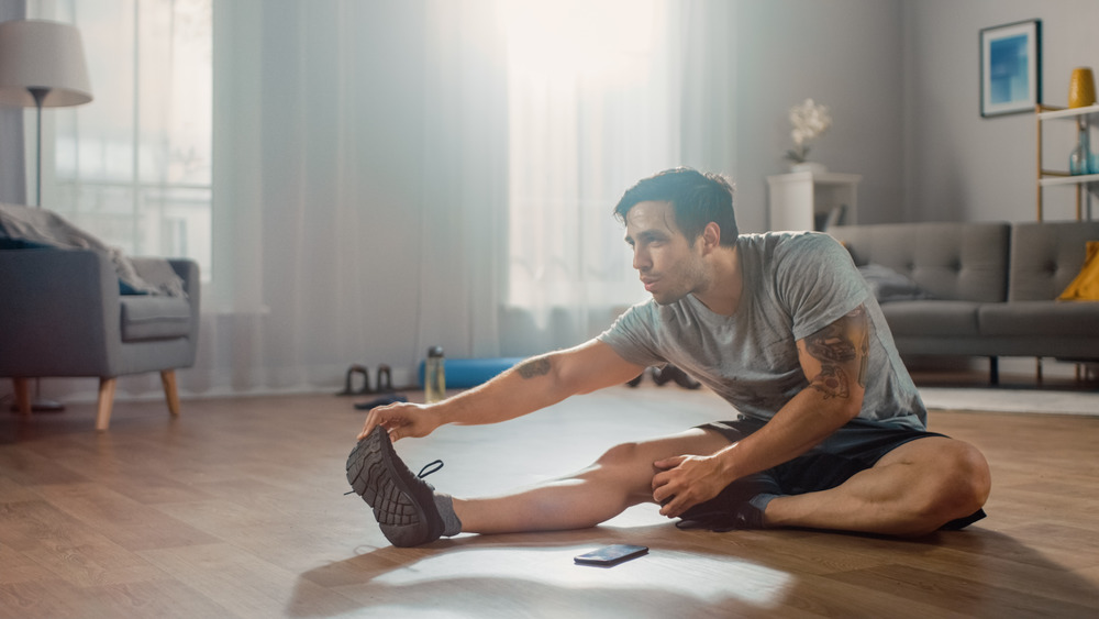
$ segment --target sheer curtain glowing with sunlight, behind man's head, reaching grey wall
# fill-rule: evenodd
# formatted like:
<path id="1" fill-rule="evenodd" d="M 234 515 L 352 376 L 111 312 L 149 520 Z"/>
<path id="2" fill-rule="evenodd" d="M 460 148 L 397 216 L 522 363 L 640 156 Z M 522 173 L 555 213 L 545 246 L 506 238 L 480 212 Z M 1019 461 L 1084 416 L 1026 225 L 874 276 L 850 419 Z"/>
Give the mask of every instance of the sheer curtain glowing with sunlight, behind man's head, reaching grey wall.
<path id="1" fill-rule="evenodd" d="M 731 172 L 728 2 L 509 2 L 508 345 L 567 346 L 646 295 L 611 210 L 679 165 Z M 582 19 L 578 18 L 582 15 Z"/>

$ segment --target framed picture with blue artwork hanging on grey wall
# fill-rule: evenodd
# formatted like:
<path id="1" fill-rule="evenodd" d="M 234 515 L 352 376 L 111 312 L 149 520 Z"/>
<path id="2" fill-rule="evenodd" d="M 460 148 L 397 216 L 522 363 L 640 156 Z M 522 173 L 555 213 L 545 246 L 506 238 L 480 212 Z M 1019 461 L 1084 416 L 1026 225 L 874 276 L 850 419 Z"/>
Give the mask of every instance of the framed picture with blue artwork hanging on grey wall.
<path id="1" fill-rule="evenodd" d="M 1042 102 L 1042 21 L 980 31 L 980 115 L 1033 112 Z"/>

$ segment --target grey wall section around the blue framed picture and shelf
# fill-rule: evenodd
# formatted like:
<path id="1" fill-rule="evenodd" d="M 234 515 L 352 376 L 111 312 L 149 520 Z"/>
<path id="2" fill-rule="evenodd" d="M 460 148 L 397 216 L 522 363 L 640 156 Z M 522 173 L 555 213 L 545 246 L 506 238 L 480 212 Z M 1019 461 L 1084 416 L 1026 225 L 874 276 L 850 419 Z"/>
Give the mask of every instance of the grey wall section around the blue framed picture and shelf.
<path id="1" fill-rule="evenodd" d="M 1099 2 L 909 0 L 902 10 L 902 219 L 1032 221 L 1036 191 L 1034 117 L 981 118 L 979 31 L 1042 20 L 1043 101 L 1065 106 L 1072 69 L 1099 68 L 1095 34 Z M 1063 140 L 1059 144 L 1047 141 L 1047 167 L 1067 162 L 1072 136 Z M 1075 217 L 1069 189 L 1048 189 L 1045 200 L 1047 219 Z"/>

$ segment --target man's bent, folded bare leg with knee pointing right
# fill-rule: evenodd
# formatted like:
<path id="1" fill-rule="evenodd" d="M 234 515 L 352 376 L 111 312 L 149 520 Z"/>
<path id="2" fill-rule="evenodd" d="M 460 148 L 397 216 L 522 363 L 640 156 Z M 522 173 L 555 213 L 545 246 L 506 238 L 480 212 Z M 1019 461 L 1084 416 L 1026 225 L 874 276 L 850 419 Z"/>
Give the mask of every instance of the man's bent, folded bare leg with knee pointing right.
<path id="1" fill-rule="evenodd" d="M 764 522 L 919 535 L 977 511 L 990 485 L 988 463 L 976 447 L 929 436 L 898 446 L 835 488 L 771 500 Z"/>

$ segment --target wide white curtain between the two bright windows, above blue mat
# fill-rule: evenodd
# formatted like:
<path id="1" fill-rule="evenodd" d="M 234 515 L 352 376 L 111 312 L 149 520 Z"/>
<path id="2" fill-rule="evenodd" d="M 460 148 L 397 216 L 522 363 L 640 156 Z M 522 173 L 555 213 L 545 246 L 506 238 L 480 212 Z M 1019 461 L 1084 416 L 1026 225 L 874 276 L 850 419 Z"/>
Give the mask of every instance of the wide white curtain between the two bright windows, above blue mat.
<path id="1" fill-rule="evenodd" d="M 500 353 L 507 118 L 495 3 L 214 12 L 214 276 L 193 393 L 415 383 Z M 356 379 L 357 380 L 357 379 Z"/>

